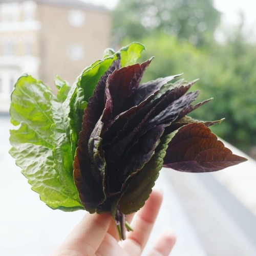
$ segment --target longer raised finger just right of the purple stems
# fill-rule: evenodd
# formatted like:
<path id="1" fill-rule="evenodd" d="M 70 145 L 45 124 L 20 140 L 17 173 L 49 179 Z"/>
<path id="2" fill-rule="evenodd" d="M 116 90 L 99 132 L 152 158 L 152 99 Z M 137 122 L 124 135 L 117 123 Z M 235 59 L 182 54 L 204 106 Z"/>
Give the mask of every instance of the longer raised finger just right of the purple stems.
<path id="1" fill-rule="evenodd" d="M 122 247 L 130 255 L 140 255 L 144 249 L 158 215 L 162 198 L 161 191 L 153 190 L 144 207 L 135 215 L 132 222 L 134 231 L 129 232 L 127 239 L 122 243 Z"/>

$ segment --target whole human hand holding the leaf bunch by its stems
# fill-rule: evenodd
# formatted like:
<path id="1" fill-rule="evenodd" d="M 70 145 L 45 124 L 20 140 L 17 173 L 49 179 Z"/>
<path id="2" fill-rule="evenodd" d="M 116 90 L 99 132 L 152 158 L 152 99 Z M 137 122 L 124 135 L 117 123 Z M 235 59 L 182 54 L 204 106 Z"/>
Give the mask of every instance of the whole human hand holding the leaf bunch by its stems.
<path id="1" fill-rule="evenodd" d="M 127 216 L 128 221 L 133 219 L 131 226 L 134 227 L 134 231 L 127 233 L 126 240 L 119 241 L 114 221 L 109 213 L 87 214 L 51 255 L 141 255 L 158 215 L 162 198 L 161 191 L 153 190 L 145 205 L 135 215 Z M 174 234 L 164 232 L 149 255 L 169 255 L 175 241 Z"/>

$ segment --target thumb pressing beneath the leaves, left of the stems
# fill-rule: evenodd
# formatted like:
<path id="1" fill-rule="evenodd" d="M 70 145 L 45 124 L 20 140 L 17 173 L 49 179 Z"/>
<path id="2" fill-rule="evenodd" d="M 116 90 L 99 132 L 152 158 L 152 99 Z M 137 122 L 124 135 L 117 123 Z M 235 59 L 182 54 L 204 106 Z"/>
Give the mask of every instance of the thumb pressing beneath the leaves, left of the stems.
<path id="1" fill-rule="evenodd" d="M 53 255 L 94 255 L 111 219 L 110 214 L 87 214 Z"/>

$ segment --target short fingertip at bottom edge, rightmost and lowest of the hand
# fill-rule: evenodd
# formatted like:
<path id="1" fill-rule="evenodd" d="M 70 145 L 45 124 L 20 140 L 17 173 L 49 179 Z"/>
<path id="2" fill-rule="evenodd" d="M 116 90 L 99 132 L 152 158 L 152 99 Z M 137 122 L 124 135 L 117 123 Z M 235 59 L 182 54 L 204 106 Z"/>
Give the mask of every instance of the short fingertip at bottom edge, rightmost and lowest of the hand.
<path id="1" fill-rule="evenodd" d="M 158 239 L 148 256 L 168 256 L 176 242 L 175 234 L 166 231 Z"/>

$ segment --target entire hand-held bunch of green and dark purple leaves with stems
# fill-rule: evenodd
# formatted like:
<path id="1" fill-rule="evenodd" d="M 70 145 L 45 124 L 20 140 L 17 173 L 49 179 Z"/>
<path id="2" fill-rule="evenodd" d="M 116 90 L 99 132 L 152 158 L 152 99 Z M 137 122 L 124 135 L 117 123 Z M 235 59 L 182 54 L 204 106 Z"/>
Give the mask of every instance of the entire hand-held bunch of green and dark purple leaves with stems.
<path id="1" fill-rule="evenodd" d="M 196 82 L 176 76 L 141 83 L 152 58 L 136 63 L 133 43 L 86 68 L 74 86 L 56 77 L 57 96 L 25 75 L 12 93 L 10 154 L 32 189 L 56 209 L 111 212 L 124 239 L 125 216 L 151 194 L 162 166 L 212 172 L 245 161 L 208 126 L 187 116 Z M 176 79 L 176 80 L 175 80 Z"/>

